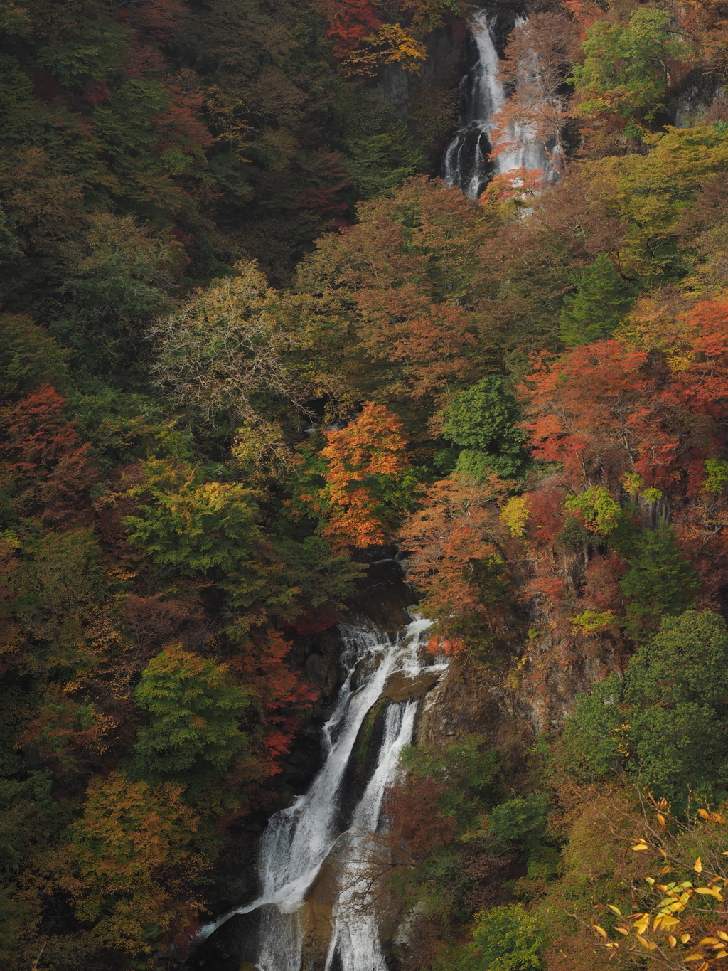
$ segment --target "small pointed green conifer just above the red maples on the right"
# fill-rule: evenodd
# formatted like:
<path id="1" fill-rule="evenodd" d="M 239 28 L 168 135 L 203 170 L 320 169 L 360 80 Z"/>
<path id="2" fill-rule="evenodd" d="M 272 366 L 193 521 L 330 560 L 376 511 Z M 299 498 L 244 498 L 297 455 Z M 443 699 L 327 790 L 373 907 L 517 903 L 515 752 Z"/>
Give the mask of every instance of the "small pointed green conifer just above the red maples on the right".
<path id="1" fill-rule="evenodd" d="M 568 347 L 606 340 L 630 307 L 626 286 L 600 252 L 579 275 L 579 288 L 564 300 L 561 339 Z"/>

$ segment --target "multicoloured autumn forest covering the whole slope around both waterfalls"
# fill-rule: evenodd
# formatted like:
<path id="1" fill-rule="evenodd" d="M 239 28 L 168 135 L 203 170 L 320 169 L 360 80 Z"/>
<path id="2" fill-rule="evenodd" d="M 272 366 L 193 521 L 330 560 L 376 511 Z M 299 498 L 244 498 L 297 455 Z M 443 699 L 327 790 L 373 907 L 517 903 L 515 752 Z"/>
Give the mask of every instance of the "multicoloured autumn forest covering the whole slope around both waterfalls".
<path id="1" fill-rule="evenodd" d="M 728 958 L 727 13 L 531 10 L 495 150 L 560 179 L 473 203 L 465 5 L 0 6 L 3 967 L 181 966 L 394 544 L 527 713 L 406 756 L 402 967 Z"/>

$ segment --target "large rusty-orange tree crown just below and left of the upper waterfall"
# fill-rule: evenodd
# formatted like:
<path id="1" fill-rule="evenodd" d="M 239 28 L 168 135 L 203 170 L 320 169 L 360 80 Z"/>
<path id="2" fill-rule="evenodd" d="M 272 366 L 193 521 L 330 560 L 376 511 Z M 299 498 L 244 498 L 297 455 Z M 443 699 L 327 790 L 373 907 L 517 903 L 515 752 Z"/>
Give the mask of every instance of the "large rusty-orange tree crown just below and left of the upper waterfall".
<path id="1" fill-rule="evenodd" d="M 426 176 L 360 203 L 357 216 L 301 262 L 298 288 L 318 308 L 307 339 L 332 348 L 329 382 L 400 414 L 409 407 L 412 427 L 424 425 L 433 401 L 478 377 L 485 354 L 470 308 L 482 286 L 478 248 L 496 217 Z"/>

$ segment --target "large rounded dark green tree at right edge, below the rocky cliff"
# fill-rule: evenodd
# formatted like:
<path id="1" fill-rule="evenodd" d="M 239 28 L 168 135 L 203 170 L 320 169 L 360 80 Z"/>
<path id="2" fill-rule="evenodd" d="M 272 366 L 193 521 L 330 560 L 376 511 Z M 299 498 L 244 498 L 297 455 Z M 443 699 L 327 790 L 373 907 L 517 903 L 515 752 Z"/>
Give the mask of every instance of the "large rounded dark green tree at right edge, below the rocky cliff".
<path id="1" fill-rule="evenodd" d="M 564 731 L 568 764 L 583 781 L 621 767 L 656 798 L 684 808 L 688 791 L 718 801 L 728 790 L 728 631 L 710 612 L 666 617 L 616 674 L 579 694 Z"/>

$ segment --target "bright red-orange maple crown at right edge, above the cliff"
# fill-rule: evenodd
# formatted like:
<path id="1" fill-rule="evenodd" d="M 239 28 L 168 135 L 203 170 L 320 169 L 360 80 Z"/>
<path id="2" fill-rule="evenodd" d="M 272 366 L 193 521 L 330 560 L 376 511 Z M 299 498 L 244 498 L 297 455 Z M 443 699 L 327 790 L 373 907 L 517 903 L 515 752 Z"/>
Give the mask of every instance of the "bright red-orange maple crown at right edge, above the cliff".
<path id="1" fill-rule="evenodd" d="M 660 488 L 677 483 L 715 439 L 706 419 L 725 414 L 725 351 L 718 325 L 696 340 L 699 359 L 676 374 L 616 341 L 541 361 L 523 388 L 535 457 L 563 462 L 587 484 L 615 485 L 624 473 Z"/>

